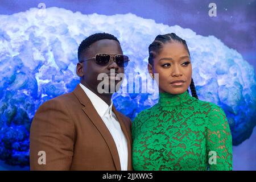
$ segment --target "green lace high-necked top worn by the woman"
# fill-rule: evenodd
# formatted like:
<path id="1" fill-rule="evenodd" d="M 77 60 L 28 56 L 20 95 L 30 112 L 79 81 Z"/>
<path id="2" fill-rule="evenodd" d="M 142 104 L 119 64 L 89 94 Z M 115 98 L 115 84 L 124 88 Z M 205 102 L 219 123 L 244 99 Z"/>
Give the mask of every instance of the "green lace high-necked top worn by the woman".
<path id="1" fill-rule="evenodd" d="M 134 170 L 232 170 L 232 136 L 221 107 L 160 93 L 133 121 Z"/>

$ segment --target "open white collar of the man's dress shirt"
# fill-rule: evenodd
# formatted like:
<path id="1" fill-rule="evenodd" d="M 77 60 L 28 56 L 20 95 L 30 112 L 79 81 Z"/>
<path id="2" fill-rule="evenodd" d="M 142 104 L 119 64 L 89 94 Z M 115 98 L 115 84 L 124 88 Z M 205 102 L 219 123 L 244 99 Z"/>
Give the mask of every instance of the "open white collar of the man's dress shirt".
<path id="1" fill-rule="evenodd" d="M 92 102 L 92 105 L 94 106 L 94 108 L 96 109 L 100 117 L 103 117 L 103 115 L 105 114 L 112 115 L 112 106 L 113 106 L 112 100 L 109 106 L 108 104 L 106 104 L 104 100 L 98 97 L 90 89 L 86 88 L 86 86 L 82 85 L 81 83 L 79 85 L 81 86 L 82 90 L 84 90 L 86 95 L 89 97 L 90 102 Z"/>

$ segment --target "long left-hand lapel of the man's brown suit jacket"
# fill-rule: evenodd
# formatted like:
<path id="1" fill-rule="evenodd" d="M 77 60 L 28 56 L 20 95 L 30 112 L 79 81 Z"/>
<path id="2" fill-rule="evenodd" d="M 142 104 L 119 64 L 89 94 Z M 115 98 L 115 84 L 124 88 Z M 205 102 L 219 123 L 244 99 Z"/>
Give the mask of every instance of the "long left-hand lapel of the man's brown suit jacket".
<path id="1" fill-rule="evenodd" d="M 79 99 L 80 103 L 85 106 L 85 107 L 82 108 L 82 110 L 90 118 L 90 120 L 92 121 L 94 126 L 101 133 L 105 142 L 108 144 L 110 153 L 112 154 L 112 158 L 114 160 L 115 168 L 118 171 L 120 171 L 121 170 L 121 165 L 120 165 L 120 160 L 119 160 L 117 147 L 115 146 L 114 139 L 113 139 L 112 135 L 110 134 L 108 128 L 106 127 L 104 121 L 102 121 L 100 115 L 98 115 L 96 109 L 92 105 L 92 102 L 90 102 L 88 96 L 85 94 L 84 90 L 82 90 L 80 85 L 76 86 L 73 93 Z"/>

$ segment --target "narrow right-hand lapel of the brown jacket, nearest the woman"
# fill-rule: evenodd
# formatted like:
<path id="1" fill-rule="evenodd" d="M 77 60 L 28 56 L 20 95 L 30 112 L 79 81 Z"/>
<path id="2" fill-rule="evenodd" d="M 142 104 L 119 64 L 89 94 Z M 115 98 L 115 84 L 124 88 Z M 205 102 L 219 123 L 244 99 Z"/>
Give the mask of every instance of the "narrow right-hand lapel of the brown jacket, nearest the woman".
<path id="1" fill-rule="evenodd" d="M 115 113 L 115 115 L 116 115 L 116 117 L 117 117 L 117 119 L 120 123 L 123 134 L 125 134 L 125 137 L 127 139 L 127 145 L 128 145 L 128 166 L 127 166 L 127 169 L 131 170 L 132 169 L 132 167 L 131 167 L 131 165 L 132 165 L 131 164 L 131 134 L 129 132 L 129 129 L 127 129 L 127 127 L 125 126 L 125 123 L 123 123 L 122 117 L 118 114 L 114 105 L 112 107 L 112 111 Z"/>

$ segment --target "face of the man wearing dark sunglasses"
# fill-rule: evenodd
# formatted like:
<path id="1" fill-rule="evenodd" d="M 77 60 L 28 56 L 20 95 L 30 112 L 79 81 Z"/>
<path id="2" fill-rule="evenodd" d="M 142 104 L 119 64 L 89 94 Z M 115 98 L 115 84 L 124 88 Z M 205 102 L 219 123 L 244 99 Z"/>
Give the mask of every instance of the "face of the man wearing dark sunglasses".
<path id="1" fill-rule="evenodd" d="M 115 84 L 116 86 L 119 80 L 114 80 L 110 77 L 110 69 L 115 74 L 124 73 L 124 68 L 118 67 L 118 65 L 114 61 L 114 55 L 122 55 L 122 48 L 120 44 L 115 40 L 103 39 L 94 42 L 90 45 L 89 49 L 82 52 L 81 60 L 87 60 L 94 57 L 97 53 L 106 53 L 112 55 L 109 64 L 102 66 L 95 63 L 95 60 L 88 60 L 82 63 L 77 63 L 77 75 L 81 77 L 81 83 L 87 86 L 94 93 L 98 93 L 98 84 L 102 82 L 102 80 L 98 80 L 97 77 L 101 73 L 106 73 L 109 75 L 109 79 L 106 84 Z M 116 90 L 117 91 L 117 90 Z"/>

